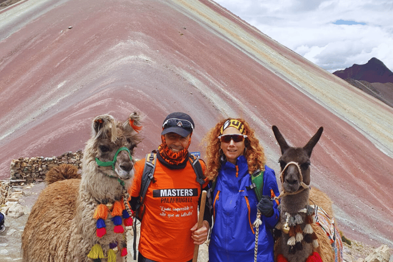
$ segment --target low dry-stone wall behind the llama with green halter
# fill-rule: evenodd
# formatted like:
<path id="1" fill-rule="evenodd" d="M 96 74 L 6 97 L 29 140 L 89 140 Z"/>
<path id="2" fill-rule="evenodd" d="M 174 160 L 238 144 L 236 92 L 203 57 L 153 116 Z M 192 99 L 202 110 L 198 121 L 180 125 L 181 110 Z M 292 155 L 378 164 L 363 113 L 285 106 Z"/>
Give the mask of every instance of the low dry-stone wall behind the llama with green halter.
<path id="1" fill-rule="evenodd" d="M 67 152 L 59 157 L 43 158 L 19 158 L 11 162 L 10 184 L 24 185 L 34 181 L 41 182 L 45 179 L 45 174 L 55 166 L 61 164 L 73 164 L 81 168 L 83 152 Z"/>

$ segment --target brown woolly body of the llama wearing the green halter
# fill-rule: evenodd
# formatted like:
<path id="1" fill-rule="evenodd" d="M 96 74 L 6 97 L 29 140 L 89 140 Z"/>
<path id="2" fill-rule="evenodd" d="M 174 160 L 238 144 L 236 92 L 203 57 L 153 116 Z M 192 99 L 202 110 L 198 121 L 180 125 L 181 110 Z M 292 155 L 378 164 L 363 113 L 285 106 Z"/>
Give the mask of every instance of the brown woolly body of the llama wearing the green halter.
<path id="1" fill-rule="evenodd" d="M 42 190 L 22 235 L 24 261 L 62 260 L 65 238 L 75 227 L 73 219 L 79 183 L 80 179 L 68 179 Z"/>

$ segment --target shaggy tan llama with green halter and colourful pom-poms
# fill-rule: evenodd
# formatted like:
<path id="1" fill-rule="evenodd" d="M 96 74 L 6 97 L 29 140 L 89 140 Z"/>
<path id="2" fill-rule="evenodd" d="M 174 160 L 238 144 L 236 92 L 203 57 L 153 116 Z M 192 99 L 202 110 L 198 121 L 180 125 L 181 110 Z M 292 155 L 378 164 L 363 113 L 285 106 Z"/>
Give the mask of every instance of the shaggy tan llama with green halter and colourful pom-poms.
<path id="1" fill-rule="evenodd" d="M 134 177 L 134 147 L 141 141 L 140 119 L 135 112 L 124 123 L 96 117 L 81 176 L 69 165 L 48 172 L 48 186 L 22 234 L 23 261 L 126 260 L 124 226 L 132 224 L 127 188 Z"/>

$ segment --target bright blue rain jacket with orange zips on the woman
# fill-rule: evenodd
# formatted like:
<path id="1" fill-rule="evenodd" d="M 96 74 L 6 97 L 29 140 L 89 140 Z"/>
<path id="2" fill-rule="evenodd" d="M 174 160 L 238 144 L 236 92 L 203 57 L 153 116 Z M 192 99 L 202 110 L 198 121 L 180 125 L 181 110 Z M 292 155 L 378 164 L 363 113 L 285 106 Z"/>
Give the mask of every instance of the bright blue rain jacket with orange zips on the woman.
<path id="1" fill-rule="evenodd" d="M 248 173 L 247 160 L 237 158 L 238 177 L 234 164 L 224 161 L 217 176 L 212 195 L 214 225 L 209 244 L 209 262 L 254 261 L 255 228 L 251 228 L 256 219 L 258 204 Z M 263 194 L 279 195 L 274 170 L 265 166 Z M 263 224 L 259 226 L 257 261 L 273 262 L 272 229 L 278 222 L 277 203 L 273 201 L 274 214 L 271 217 L 261 215 Z M 250 225 L 251 224 L 251 225 Z"/>

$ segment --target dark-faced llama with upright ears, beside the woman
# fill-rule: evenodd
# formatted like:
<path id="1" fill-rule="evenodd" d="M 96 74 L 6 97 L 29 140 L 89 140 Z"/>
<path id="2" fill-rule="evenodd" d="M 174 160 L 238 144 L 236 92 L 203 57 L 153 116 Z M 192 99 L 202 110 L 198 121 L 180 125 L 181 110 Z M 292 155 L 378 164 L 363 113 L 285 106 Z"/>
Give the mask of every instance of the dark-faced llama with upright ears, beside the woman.
<path id="1" fill-rule="evenodd" d="M 311 188 L 310 157 L 323 127 L 304 147 L 291 147 L 276 126 L 272 127 L 281 149 L 280 220 L 276 225 L 274 247 L 276 262 L 341 261 L 340 249 L 332 247 L 328 234 L 315 223 L 315 210 L 322 208 L 333 216 L 332 201 L 322 191 Z M 312 190 L 311 190 L 312 189 Z M 315 206 L 314 206 L 315 205 Z M 319 212 L 318 212 L 319 213 Z M 319 221 L 319 220 L 318 220 Z M 337 230 L 334 230 L 337 233 Z M 335 237 L 340 237 L 336 235 Z M 340 242 L 339 240 L 337 240 Z M 341 257 L 340 257 L 341 256 Z"/>

